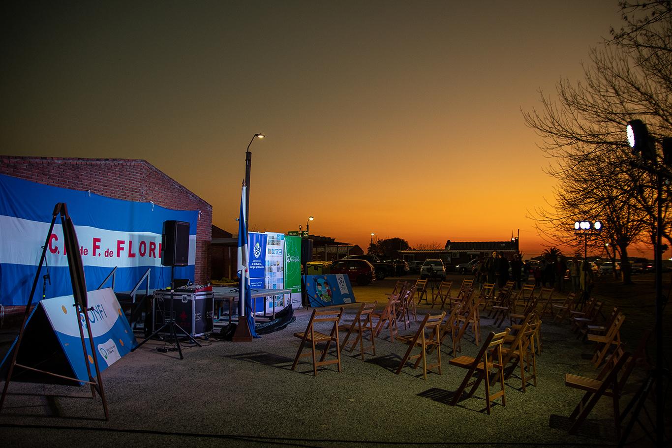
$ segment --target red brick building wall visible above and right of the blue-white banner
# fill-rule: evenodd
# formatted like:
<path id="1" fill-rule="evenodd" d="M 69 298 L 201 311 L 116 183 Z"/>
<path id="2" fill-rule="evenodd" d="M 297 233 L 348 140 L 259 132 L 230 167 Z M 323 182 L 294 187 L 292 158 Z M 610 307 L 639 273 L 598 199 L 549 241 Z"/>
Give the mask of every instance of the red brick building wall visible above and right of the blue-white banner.
<path id="1" fill-rule="evenodd" d="M 173 210 L 200 210 L 196 226 L 196 283 L 210 280 L 212 206 L 146 161 L 0 156 L 0 173 L 54 187 L 88 191 Z"/>

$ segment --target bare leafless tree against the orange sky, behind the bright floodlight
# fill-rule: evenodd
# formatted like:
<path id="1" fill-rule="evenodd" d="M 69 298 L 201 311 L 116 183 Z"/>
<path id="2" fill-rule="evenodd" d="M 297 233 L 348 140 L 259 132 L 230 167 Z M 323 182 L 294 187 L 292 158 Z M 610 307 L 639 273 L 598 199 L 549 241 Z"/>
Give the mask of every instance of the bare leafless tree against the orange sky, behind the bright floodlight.
<path id="1" fill-rule="evenodd" d="M 540 111 L 523 117 L 544 139 L 546 172 L 558 179 L 556 204 L 534 213 L 538 228 L 550 240 L 578 246 L 574 220 L 605 220 L 600 238 L 618 251 L 624 281 L 630 281 L 628 246 L 652 242 L 656 183 L 638 166 L 624 128 L 640 118 L 658 140 L 671 134 L 672 10 L 669 1 L 654 1 L 624 2 L 622 11 L 624 28 L 612 30 L 612 40 L 591 51 L 584 79 L 574 84 L 561 79 L 555 99 L 540 92 Z M 669 186 L 665 190 L 669 195 Z M 672 242 L 669 203 L 663 213 L 664 235 Z"/>

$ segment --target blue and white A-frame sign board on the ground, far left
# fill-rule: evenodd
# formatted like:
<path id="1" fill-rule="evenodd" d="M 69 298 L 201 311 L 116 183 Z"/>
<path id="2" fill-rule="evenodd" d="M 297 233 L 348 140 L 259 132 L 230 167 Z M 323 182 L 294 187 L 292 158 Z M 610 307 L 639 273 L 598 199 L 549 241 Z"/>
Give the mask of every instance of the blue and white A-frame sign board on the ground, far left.
<path id="1" fill-rule="evenodd" d="M 87 314 L 91 324 L 93 345 L 98 358 L 98 367 L 100 371 L 103 371 L 130 352 L 130 349 L 137 345 L 137 341 L 112 288 L 91 291 L 87 296 L 89 308 L 92 308 Z M 58 371 L 65 373 L 66 376 L 79 379 L 80 385 L 89 380 L 88 363 L 91 374 L 95 376 L 86 320 L 83 314 L 79 316 L 75 314 L 74 303 L 73 296 L 50 298 L 38 302 L 38 306 L 35 307 L 26 324 L 26 334 L 22 340 L 22 347 L 19 349 L 17 363 L 45 371 L 52 371 L 50 367 L 59 369 Z M 44 324 L 44 316 L 48 324 Z M 82 349 L 77 320 L 82 322 L 86 355 Z M 54 336 L 57 343 L 52 341 Z M 8 359 L 11 359 L 15 344 L 16 340 L 0 364 L 2 369 L 7 368 Z M 45 349 L 46 347 L 49 348 Z M 60 353 L 54 355 L 51 352 L 56 347 L 60 348 Z M 62 371 L 63 363 L 59 360 L 64 357 L 71 371 Z M 44 376 L 44 380 L 51 382 L 53 377 Z"/>

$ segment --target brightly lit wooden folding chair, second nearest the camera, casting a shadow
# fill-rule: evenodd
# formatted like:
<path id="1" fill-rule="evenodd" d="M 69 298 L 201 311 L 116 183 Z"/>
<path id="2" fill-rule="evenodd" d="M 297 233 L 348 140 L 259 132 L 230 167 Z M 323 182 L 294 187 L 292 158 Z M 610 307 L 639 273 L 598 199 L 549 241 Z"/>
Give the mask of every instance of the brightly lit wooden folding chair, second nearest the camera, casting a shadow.
<path id="1" fill-rule="evenodd" d="M 458 404 L 460 398 L 462 398 L 462 393 L 468 386 L 472 387 L 464 399 L 473 396 L 474 392 L 478 389 L 480 382 L 484 380 L 485 406 L 488 414 L 490 414 L 491 403 L 497 400 L 497 398 L 501 397 L 502 406 L 506 405 L 506 396 L 504 392 L 504 365 L 502 361 L 501 345 L 507 334 L 509 334 L 509 328 L 497 334 L 495 334 L 495 332 L 490 332 L 485 341 L 483 341 L 483 345 L 480 347 L 476 357 L 463 355 L 449 361 L 451 365 L 468 369 L 466 375 L 464 375 L 462 384 L 460 384 L 460 387 L 456 390 L 455 395 L 450 402 L 451 406 Z M 478 377 L 476 377 L 475 380 L 472 379 L 474 373 L 478 373 Z M 499 382 L 500 384 L 500 390 L 495 392 L 495 394 L 491 394 L 490 392 L 491 375 L 493 375 L 495 382 Z M 499 377 L 499 381 L 497 381 L 497 377 Z"/>

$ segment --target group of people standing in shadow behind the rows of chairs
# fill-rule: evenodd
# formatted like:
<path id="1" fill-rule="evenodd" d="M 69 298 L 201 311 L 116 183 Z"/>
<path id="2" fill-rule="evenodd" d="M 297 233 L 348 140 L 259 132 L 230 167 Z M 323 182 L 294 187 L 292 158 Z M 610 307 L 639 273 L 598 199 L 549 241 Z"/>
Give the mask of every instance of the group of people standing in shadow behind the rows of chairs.
<path id="1" fill-rule="evenodd" d="M 511 268 L 511 269 L 509 269 Z M 527 281 L 528 276 L 534 277 L 536 287 L 554 287 L 558 292 L 564 289 L 564 275 L 567 272 L 568 263 L 564 256 L 544 257 L 536 265 L 527 261 L 524 265 L 519 254 L 513 255 L 509 261 L 503 253 L 493 251 L 491 257 L 480 259 L 476 267 L 476 282 L 495 283 L 498 287 L 503 287 L 507 281 L 515 283 L 515 287 L 520 289 Z M 510 271 L 510 272 L 509 272 Z M 572 262 L 569 263 L 569 278 L 571 279 L 571 291 L 579 292 L 586 290 L 592 283 L 592 271 L 585 263 L 579 261 L 575 255 Z"/>

